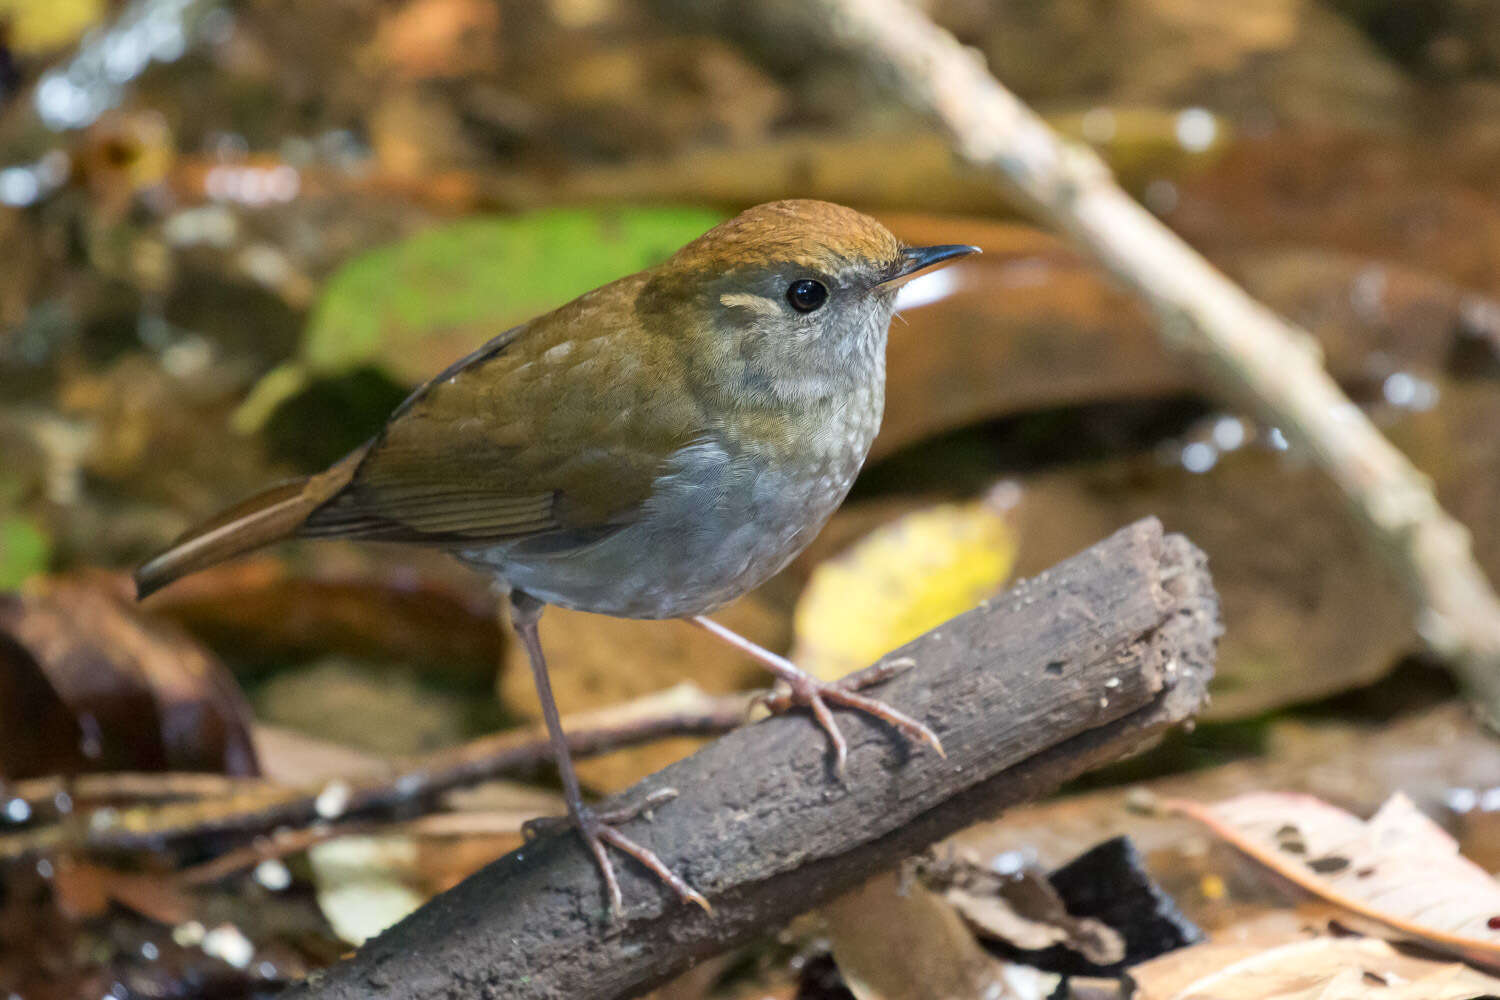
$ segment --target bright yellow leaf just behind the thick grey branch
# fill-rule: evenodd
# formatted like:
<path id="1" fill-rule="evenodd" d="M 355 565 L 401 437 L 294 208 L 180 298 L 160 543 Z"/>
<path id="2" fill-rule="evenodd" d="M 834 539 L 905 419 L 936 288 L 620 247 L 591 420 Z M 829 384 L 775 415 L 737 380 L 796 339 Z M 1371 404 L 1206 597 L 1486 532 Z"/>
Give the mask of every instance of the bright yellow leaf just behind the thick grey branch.
<path id="1" fill-rule="evenodd" d="M 962 615 L 1016 565 L 1016 532 L 992 496 L 940 504 L 824 562 L 796 603 L 792 660 L 831 681 Z"/>

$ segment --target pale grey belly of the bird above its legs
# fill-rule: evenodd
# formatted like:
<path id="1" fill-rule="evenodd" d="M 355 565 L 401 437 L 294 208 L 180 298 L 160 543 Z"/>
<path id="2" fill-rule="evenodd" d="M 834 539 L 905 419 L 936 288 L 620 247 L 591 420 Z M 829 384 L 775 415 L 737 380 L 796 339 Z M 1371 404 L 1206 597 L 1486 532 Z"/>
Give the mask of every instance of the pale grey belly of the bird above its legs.
<path id="1" fill-rule="evenodd" d="M 711 612 L 759 586 L 801 552 L 834 513 L 868 442 L 846 442 L 795 466 L 684 448 L 657 480 L 639 519 L 590 544 L 548 550 L 516 543 L 460 552 L 532 597 L 618 618 Z"/>

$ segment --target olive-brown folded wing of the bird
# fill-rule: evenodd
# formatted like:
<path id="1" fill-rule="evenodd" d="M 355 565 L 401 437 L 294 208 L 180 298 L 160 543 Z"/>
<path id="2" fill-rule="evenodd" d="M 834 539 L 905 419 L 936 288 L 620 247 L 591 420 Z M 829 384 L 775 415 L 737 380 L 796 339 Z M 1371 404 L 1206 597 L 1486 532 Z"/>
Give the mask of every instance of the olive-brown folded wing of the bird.
<path id="1" fill-rule="evenodd" d="M 630 280 L 507 331 L 417 390 L 300 534 L 546 537 L 566 549 L 630 523 L 668 456 L 702 433 L 681 363 L 622 325 Z"/>

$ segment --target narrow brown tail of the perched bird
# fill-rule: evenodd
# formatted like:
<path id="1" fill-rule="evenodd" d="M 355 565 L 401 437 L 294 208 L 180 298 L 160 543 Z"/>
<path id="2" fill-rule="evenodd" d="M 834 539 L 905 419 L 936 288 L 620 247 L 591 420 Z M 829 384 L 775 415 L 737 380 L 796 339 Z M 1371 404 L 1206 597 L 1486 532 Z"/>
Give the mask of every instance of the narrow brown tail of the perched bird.
<path id="1" fill-rule="evenodd" d="M 136 598 L 189 573 L 296 535 L 312 511 L 348 484 L 363 453 L 360 448 L 327 472 L 273 486 L 198 525 L 135 571 Z"/>

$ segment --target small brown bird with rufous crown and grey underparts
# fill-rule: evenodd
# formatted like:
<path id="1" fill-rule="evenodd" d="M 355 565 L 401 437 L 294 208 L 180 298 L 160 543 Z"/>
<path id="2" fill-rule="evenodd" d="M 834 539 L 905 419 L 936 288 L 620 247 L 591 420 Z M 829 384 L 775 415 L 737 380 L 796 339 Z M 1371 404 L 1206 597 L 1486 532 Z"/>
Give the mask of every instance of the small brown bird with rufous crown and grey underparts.
<path id="1" fill-rule="evenodd" d="M 879 222 L 822 201 L 750 208 L 664 264 L 500 334 L 326 472 L 190 531 L 140 568 L 138 592 L 292 537 L 452 552 L 508 591 L 570 822 L 612 909 L 621 897 L 604 844 L 708 909 L 614 829 L 621 816 L 584 804 L 537 621 L 548 604 L 692 621 L 786 682 L 777 708 L 813 712 L 840 775 L 846 748 L 830 703 L 942 753 L 916 720 L 705 615 L 784 567 L 849 492 L 880 426 L 892 282 L 976 252 L 906 247 Z"/>

